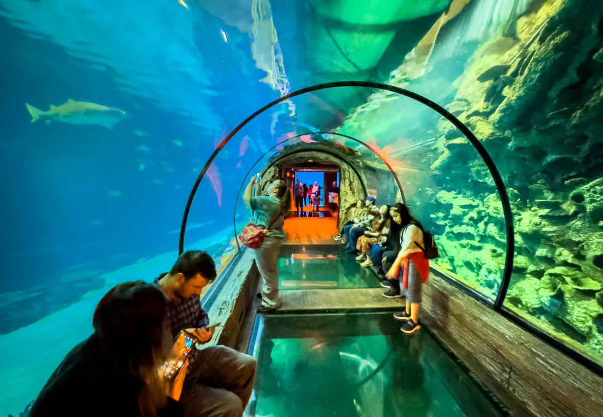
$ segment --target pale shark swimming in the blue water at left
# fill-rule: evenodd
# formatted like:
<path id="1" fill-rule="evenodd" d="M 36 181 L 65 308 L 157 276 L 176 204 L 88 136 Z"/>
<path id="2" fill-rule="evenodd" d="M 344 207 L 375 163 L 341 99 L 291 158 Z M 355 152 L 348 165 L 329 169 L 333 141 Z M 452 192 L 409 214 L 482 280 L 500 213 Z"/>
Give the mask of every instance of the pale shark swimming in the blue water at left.
<path id="1" fill-rule="evenodd" d="M 65 104 L 51 105 L 48 111 L 39 110 L 27 103 L 25 105 L 31 114 L 32 123 L 43 120 L 46 121 L 46 124 L 63 122 L 72 125 L 101 125 L 111 129 L 127 115 L 119 108 L 86 101 L 74 101 L 71 98 Z"/>

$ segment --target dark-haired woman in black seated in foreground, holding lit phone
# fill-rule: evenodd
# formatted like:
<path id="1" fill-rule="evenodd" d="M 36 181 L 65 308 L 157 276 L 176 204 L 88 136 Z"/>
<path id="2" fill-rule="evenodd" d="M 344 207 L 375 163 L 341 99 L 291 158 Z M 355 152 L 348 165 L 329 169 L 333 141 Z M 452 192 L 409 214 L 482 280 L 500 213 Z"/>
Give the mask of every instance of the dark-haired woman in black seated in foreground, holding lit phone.
<path id="1" fill-rule="evenodd" d="M 30 417 L 184 415 L 185 364 L 171 383 L 160 368 L 172 346 L 166 300 L 143 281 L 110 290 L 96 307 L 94 333 L 49 378 Z"/>

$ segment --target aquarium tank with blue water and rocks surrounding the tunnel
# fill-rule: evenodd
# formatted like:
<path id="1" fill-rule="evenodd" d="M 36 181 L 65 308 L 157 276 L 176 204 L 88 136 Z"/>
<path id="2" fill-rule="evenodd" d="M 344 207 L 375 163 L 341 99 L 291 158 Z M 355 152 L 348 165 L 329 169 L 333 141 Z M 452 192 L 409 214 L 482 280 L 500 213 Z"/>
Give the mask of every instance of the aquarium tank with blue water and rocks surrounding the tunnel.
<path id="1" fill-rule="evenodd" d="M 241 184 L 295 147 L 389 175 L 368 186 L 381 203 L 402 198 L 390 166 L 435 267 L 494 301 L 510 236 L 484 158 L 376 85 L 288 96 L 336 81 L 417 93 L 475 134 L 513 215 L 502 309 L 603 364 L 601 2 L 0 0 L 0 42 L 0 415 L 36 398 L 108 289 L 172 265 L 202 170 L 183 248 L 227 271 Z"/>

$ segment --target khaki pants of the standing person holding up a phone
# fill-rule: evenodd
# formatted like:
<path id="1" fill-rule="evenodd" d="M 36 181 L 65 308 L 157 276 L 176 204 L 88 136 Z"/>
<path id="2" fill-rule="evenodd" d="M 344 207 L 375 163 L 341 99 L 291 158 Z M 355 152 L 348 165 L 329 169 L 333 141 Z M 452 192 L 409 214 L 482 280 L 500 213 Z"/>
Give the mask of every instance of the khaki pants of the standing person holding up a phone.
<path id="1" fill-rule="evenodd" d="M 266 236 L 262 246 L 255 249 L 257 270 L 262 275 L 262 304 L 271 309 L 280 307 L 279 252 L 285 239 Z"/>

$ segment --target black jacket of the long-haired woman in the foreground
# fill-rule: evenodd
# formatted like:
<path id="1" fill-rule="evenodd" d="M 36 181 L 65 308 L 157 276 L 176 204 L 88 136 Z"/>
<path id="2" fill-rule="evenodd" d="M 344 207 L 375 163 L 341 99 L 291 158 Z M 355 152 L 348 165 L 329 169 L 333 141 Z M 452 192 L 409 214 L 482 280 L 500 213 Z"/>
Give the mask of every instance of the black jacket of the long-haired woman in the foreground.
<path id="1" fill-rule="evenodd" d="M 116 369 L 94 334 L 75 346 L 49 378 L 30 417 L 140 417 L 139 382 Z M 168 398 L 158 417 L 181 417 L 182 404 Z"/>

